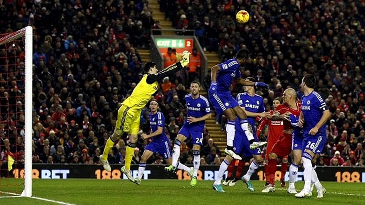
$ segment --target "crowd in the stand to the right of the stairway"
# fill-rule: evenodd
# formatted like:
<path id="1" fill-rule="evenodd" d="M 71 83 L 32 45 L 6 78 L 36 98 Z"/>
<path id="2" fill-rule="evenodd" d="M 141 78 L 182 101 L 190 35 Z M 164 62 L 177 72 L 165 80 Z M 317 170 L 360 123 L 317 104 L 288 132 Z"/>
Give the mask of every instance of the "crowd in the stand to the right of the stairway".
<path id="1" fill-rule="evenodd" d="M 269 83 L 258 90 L 267 110 L 286 88 L 298 90 L 314 74 L 317 90 L 333 113 L 328 145 L 319 165 L 363 166 L 365 155 L 365 29 L 363 1 L 163 0 L 161 10 L 178 29 L 193 29 L 208 51 L 222 61 L 242 48 L 251 51 L 243 77 Z M 174 5 L 171 7 L 171 5 Z M 168 8 L 168 9 L 167 9 Z M 239 10 L 250 13 L 237 24 Z M 209 85 L 208 74 L 205 84 Z M 233 85 L 233 94 L 242 92 Z M 219 121 L 217 119 L 217 121 Z M 267 134 L 266 134 L 267 135 Z M 339 158 L 339 159 L 337 159 Z M 342 158 L 342 159 L 341 159 Z M 351 161 L 351 163 L 349 163 Z"/>

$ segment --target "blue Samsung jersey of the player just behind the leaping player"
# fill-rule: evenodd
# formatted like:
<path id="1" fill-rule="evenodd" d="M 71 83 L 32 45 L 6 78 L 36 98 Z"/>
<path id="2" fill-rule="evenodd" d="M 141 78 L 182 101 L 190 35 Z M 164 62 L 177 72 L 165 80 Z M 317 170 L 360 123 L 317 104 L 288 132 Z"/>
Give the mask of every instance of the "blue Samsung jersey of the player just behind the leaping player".
<path id="1" fill-rule="evenodd" d="M 248 93 L 238 93 L 237 102 L 239 106 L 244 107 L 246 111 L 254 113 L 265 112 L 264 99 L 258 94 L 250 96 Z M 251 125 L 252 129 L 254 129 L 255 117 L 247 117 L 247 120 L 249 121 L 249 124 Z M 255 132 L 253 133 L 255 134 Z"/>

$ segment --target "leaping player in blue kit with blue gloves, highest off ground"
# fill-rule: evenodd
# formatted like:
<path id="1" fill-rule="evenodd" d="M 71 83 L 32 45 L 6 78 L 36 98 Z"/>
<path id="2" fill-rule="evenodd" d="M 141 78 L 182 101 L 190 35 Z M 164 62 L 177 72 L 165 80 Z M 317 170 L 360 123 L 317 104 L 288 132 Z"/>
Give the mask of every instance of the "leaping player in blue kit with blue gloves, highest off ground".
<path id="1" fill-rule="evenodd" d="M 255 141 L 252 129 L 250 128 L 246 119 L 246 113 L 239 107 L 237 101 L 232 97 L 229 90 L 229 87 L 235 78 L 237 78 L 237 82 L 239 84 L 245 86 L 268 87 L 268 85 L 263 82 L 250 82 L 241 78 L 240 68 L 246 63 L 249 57 L 249 50 L 241 49 L 238 51 L 236 58 L 213 66 L 211 69 L 212 82 L 208 91 L 209 101 L 215 109 L 217 115 L 221 115 L 223 113 L 223 115 L 228 119 L 226 126 L 227 148 L 224 150 L 224 152 L 238 160 L 241 160 L 242 158 L 233 151 L 236 115 L 240 119 L 240 127 L 245 132 L 246 137 L 250 142 L 251 149 L 264 147 L 267 144 L 267 142 Z"/>

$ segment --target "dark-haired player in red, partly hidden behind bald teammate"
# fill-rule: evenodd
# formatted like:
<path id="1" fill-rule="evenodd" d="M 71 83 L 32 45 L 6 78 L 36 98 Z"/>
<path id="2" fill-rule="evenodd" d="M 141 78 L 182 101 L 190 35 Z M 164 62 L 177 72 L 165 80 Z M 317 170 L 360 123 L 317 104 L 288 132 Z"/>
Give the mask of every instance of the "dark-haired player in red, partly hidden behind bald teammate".
<path id="1" fill-rule="evenodd" d="M 271 115 L 274 114 L 274 110 L 277 108 L 277 106 L 281 103 L 280 98 L 275 98 L 273 100 L 273 110 L 270 110 L 269 113 Z M 265 125 L 268 124 L 268 146 L 266 147 L 266 155 L 265 155 L 265 177 L 266 177 L 266 183 L 265 187 L 269 185 L 269 168 L 268 168 L 268 160 L 269 160 L 269 154 L 274 146 L 274 144 L 277 142 L 279 137 L 283 135 L 283 120 L 279 121 L 273 121 L 267 118 L 263 118 L 261 120 L 261 123 L 257 127 L 256 136 L 260 136 L 262 129 L 265 127 Z M 281 178 L 280 183 L 281 187 L 285 187 L 285 173 L 288 169 L 288 156 L 284 156 L 284 158 L 281 159 Z"/>

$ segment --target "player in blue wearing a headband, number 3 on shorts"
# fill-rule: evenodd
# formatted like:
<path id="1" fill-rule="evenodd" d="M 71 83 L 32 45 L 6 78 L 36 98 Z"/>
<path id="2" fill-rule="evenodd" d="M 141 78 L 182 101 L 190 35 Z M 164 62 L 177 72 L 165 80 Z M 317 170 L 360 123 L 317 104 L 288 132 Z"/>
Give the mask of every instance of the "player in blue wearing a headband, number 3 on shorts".
<path id="1" fill-rule="evenodd" d="M 152 142 L 147 144 L 143 155 L 141 156 L 141 161 L 139 162 L 138 167 L 138 177 L 135 179 L 135 183 L 140 184 L 142 180 L 143 171 L 146 169 L 147 160 L 155 153 L 163 156 L 168 165 L 172 163 L 172 153 L 170 149 L 170 140 L 166 136 L 165 133 L 165 117 L 162 112 L 158 111 L 159 105 L 158 102 L 152 100 L 150 102 L 150 126 L 151 126 L 151 134 L 146 135 L 142 134 L 142 139 L 152 138 Z M 192 172 L 193 169 L 185 165 L 181 165 L 179 169 Z"/>

